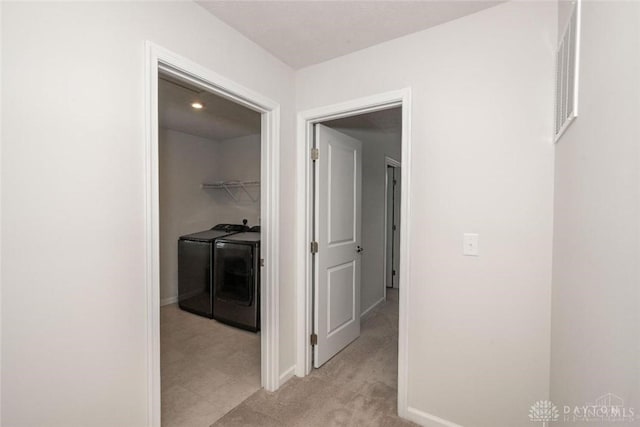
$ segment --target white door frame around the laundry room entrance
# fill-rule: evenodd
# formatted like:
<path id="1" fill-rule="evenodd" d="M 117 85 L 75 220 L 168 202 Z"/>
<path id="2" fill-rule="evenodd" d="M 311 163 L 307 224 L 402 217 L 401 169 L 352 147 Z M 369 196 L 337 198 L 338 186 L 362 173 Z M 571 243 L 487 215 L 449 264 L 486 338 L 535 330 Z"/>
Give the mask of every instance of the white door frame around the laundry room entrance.
<path id="1" fill-rule="evenodd" d="M 147 424 L 160 427 L 160 204 L 158 178 L 158 73 L 178 76 L 218 96 L 261 113 L 260 216 L 261 385 L 279 386 L 279 156 L 280 106 L 234 81 L 150 41 L 145 42 L 145 282 L 147 291 Z"/>

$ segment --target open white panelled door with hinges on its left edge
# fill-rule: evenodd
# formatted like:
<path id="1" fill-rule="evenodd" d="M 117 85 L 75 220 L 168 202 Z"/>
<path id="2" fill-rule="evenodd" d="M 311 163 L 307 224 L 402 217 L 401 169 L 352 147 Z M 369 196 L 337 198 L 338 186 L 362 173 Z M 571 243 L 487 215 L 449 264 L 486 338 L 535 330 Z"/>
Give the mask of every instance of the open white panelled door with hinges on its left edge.
<path id="1" fill-rule="evenodd" d="M 315 125 L 314 324 L 319 368 L 360 336 L 362 143 Z"/>

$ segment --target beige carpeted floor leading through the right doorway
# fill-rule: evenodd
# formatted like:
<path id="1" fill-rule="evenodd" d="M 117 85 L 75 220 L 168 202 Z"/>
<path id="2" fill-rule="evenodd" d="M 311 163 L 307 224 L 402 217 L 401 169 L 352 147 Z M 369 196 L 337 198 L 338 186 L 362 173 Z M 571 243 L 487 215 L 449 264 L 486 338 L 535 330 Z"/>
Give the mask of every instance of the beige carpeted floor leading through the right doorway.
<path id="1" fill-rule="evenodd" d="M 212 427 L 415 426 L 398 418 L 398 291 L 369 312 L 361 336 L 275 393 L 259 390 Z"/>

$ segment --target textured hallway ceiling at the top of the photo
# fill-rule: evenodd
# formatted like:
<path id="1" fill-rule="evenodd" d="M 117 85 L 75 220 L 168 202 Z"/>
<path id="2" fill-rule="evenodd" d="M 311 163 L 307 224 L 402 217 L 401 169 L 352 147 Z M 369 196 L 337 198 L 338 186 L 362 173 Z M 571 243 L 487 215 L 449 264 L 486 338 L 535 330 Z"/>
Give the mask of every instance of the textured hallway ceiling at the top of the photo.
<path id="1" fill-rule="evenodd" d="M 293 68 L 478 12 L 501 1 L 199 1 Z"/>

